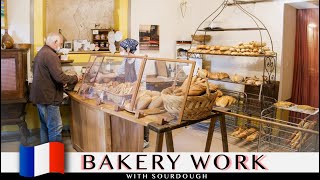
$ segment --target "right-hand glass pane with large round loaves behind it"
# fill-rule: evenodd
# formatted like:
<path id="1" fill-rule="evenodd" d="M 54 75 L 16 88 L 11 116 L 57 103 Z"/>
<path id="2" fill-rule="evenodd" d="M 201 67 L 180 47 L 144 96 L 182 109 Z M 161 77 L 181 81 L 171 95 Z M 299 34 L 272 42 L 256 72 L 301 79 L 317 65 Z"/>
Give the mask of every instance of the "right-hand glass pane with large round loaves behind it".
<path id="1" fill-rule="evenodd" d="M 137 98 L 134 104 L 126 102 L 125 110 L 150 118 L 161 115 L 167 120 L 178 120 L 187 95 L 188 77 L 193 75 L 192 63 L 186 60 L 148 59 Z"/>

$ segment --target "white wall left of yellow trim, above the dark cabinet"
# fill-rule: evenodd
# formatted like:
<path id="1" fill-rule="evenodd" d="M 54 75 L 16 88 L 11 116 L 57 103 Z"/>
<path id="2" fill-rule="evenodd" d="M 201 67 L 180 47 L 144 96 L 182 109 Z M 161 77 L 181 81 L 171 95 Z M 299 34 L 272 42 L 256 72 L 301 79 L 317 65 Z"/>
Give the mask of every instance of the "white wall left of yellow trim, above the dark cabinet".
<path id="1" fill-rule="evenodd" d="M 14 43 L 31 43 L 30 3 L 30 0 L 7 0 L 8 31 Z M 3 29 L 1 34 L 4 34 Z M 27 66 L 30 77 L 30 51 Z"/>

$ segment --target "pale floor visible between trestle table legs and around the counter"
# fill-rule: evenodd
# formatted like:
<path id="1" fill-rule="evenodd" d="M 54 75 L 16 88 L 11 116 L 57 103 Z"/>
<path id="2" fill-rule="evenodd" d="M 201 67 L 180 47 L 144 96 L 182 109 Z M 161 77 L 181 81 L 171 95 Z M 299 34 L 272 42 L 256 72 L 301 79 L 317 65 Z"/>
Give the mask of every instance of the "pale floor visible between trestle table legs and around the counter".
<path id="1" fill-rule="evenodd" d="M 180 128 L 173 131 L 173 142 L 175 152 L 204 152 L 207 132 L 194 129 L 192 127 Z M 156 134 L 150 131 L 150 145 L 148 148 L 144 149 L 144 152 L 153 152 L 155 149 Z M 230 152 L 246 152 L 248 149 L 246 145 L 234 145 L 235 141 L 231 138 L 229 140 L 229 151 Z M 37 138 L 35 141 L 39 141 Z M 65 144 L 66 152 L 76 152 L 73 149 L 70 137 L 63 137 L 63 142 Z M 1 152 L 18 152 L 19 142 L 4 142 L 1 143 Z M 166 152 L 166 143 L 164 138 L 163 151 Z M 215 132 L 211 144 L 212 152 L 222 152 L 222 142 L 219 132 Z"/>

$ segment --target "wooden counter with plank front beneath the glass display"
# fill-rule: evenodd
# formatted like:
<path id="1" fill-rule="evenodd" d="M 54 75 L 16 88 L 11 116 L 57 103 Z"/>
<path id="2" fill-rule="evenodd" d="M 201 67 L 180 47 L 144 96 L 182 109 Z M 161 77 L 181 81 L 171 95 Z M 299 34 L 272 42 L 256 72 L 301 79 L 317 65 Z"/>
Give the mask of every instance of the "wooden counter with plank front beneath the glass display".
<path id="1" fill-rule="evenodd" d="M 158 120 L 156 116 L 135 118 L 126 111 L 116 112 L 111 105 L 96 105 L 75 92 L 71 98 L 71 141 L 77 151 L 142 152 L 143 128 Z"/>

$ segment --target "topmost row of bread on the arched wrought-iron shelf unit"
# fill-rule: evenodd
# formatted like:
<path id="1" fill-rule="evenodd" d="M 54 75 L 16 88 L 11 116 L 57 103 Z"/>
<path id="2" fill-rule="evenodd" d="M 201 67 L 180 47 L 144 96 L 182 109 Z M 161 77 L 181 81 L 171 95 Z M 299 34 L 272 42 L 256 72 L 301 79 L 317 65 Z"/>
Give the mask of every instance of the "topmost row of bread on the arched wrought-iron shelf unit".
<path id="1" fill-rule="evenodd" d="M 276 56 L 276 53 L 267 47 L 265 42 L 256 41 L 239 43 L 236 46 L 198 45 L 196 48 L 190 49 L 188 53 L 248 57 Z"/>

